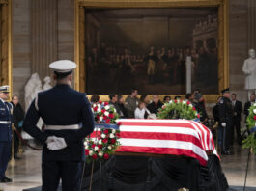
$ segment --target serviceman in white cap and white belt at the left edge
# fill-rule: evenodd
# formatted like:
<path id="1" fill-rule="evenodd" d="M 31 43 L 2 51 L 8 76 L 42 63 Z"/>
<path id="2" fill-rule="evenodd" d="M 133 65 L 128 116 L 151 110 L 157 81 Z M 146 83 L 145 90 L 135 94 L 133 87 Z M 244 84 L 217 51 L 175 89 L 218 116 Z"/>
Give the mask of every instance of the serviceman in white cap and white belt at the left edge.
<path id="1" fill-rule="evenodd" d="M 0 182 L 12 182 L 5 176 L 12 145 L 12 113 L 13 107 L 9 102 L 9 86 L 0 87 Z"/>

